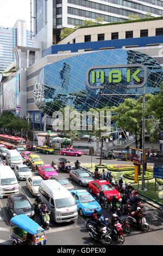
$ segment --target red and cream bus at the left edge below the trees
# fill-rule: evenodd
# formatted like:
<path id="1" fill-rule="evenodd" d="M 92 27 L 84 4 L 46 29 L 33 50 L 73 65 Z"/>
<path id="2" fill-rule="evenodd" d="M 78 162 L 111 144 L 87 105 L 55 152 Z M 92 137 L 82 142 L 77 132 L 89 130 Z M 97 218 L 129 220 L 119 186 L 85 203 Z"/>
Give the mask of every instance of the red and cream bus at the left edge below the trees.
<path id="1" fill-rule="evenodd" d="M 26 139 L 12 135 L 0 134 L 0 144 L 5 145 L 8 149 L 13 149 L 17 146 L 21 146 L 26 149 Z"/>

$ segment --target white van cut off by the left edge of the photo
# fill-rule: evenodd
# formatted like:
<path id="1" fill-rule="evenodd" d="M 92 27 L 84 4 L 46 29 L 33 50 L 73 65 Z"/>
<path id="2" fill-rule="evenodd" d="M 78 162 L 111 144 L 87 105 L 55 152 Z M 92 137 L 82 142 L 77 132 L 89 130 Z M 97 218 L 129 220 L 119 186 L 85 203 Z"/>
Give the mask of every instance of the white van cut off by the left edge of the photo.
<path id="1" fill-rule="evenodd" d="M 0 198 L 8 194 L 18 194 L 18 181 L 9 166 L 0 166 Z"/>

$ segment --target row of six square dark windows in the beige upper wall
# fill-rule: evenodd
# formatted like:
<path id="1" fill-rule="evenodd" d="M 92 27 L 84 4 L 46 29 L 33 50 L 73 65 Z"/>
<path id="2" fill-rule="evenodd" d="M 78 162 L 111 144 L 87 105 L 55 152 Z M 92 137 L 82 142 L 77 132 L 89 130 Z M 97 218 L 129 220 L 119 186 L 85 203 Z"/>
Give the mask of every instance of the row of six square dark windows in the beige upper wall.
<path id="1" fill-rule="evenodd" d="M 155 29 L 155 35 L 163 35 L 163 28 L 156 28 Z M 148 36 L 148 29 L 142 29 L 140 31 L 140 37 L 146 37 Z M 133 38 L 133 31 L 126 31 L 126 38 Z M 118 32 L 111 33 L 111 40 L 118 39 Z M 104 34 L 98 34 L 98 41 L 105 40 Z M 84 36 L 85 42 L 91 42 L 91 35 L 85 35 Z"/>

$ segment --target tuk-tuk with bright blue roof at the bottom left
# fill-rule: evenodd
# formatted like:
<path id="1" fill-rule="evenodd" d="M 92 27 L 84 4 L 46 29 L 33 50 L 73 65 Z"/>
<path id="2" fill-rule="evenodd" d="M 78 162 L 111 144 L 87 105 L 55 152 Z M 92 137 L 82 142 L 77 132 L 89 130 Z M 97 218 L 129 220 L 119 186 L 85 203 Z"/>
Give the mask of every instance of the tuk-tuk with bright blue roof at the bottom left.
<path id="1" fill-rule="evenodd" d="M 26 214 L 11 218 L 10 239 L 12 245 L 46 245 L 47 241 L 45 229 Z"/>

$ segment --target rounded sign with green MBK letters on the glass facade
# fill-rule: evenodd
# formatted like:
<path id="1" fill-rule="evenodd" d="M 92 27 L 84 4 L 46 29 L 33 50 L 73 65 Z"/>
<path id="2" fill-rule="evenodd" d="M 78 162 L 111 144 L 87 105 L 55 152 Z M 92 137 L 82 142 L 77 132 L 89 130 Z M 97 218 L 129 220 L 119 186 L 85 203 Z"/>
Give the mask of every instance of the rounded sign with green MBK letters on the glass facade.
<path id="1" fill-rule="evenodd" d="M 102 89 L 105 82 L 120 84 L 122 78 L 125 79 L 127 88 L 141 88 L 147 82 L 147 69 L 142 64 L 127 64 L 92 66 L 86 72 L 86 84 L 91 89 Z"/>

